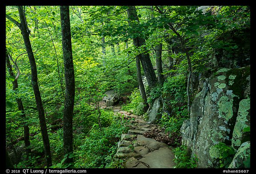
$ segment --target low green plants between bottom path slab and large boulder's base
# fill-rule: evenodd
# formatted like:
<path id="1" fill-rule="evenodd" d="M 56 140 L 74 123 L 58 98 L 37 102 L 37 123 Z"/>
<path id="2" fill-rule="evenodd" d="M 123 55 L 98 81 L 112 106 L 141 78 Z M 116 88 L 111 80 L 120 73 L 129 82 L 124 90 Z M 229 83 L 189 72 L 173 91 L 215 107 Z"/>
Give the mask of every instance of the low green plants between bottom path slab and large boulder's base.
<path id="1" fill-rule="evenodd" d="M 196 168 L 197 167 L 197 157 L 190 156 L 190 153 L 188 151 L 188 148 L 184 145 L 180 147 L 176 147 L 173 149 L 175 159 L 173 161 L 175 162 L 174 168 Z"/>

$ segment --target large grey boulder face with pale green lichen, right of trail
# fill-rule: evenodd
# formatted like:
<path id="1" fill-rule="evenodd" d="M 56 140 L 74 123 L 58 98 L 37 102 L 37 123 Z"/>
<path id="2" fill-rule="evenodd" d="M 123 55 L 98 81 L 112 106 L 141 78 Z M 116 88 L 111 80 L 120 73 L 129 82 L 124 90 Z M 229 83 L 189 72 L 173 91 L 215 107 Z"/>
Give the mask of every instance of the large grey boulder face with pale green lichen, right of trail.
<path id="1" fill-rule="evenodd" d="M 241 166 L 247 153 L 241 156 L 242 144 L 250 147 L 250 66 L 236 69 L 222 68 L 206 79 L 202 90 L 191 105 L 190 119 L 182 128 L 182 143 L 198 158 L 199 168 L 216 168 L 214 145 L 225 143 L 237 151 L 232 166 Z M 243 144 L 243 147 L 245 145 Z"/>

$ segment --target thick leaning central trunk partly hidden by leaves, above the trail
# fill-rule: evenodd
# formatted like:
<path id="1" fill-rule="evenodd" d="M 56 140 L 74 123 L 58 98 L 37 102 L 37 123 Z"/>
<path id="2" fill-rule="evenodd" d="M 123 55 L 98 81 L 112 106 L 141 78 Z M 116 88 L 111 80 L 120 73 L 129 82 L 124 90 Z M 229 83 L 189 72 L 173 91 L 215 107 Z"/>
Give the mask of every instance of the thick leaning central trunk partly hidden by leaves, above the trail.
<path id="1" fill-rule="evenodd" d="M 132 21 L 139 22 L 139 18 L 138 18 L 135 6 L 128 6 L 127 13 L 128 13 L 129 25 L 132 25 L 131 24 Z M 140 47 L 145 44 L 145 39 L 140 38 L 140 37 L 133 38 L 132 40 L 133 40 L 133 45 L 136 47 Z M 145 52 L 146 52 L 146 50 L 145 50 Z M 153 69 L 149 54 L 141 53 L 138 55 L 138 57 L 140 58 L 140 62 L 143 67 L 144 74 L 147 77 L 149 88 L 155 87 L 157 84 L 157 78 L 156 78 L 156 73 Z"/>

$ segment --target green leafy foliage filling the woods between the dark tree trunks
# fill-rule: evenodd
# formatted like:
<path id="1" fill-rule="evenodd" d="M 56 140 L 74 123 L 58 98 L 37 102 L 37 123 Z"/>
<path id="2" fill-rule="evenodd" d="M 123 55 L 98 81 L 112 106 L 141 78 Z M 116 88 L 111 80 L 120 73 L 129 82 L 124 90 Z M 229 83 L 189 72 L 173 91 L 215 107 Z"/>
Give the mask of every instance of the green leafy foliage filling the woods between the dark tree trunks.
<path id="1" fill-rule="evenodd" d="M 71 9 L 72 8 L 72 9 Z M 70 8 L 72 54 L 76 81 L 76 95 L 73 116 L 73 147 L 76 167 L 121 167 L 122 160 L 112 158 L 116 150 L 117 138 L 125 131 L 115 120 L 113 112 L 100 108 L 104 93 L 113 89 L 122 95 L 132 91 L 130 102 L 124 110 L 132 110 L 136 115 L 144 114 L 144 104 L 137 85 L 136 64 L 138 54 L 149 53 L 154 66 L 155 55 L 151 49 L 163 43 L 163 65 L 173 58 L 171 70 L 164 69 L 167 79 L 162 88 L 148 90 L 148 101 L 162 95 L 165 110 L 161 124 L 173 137 L 179 137 L 180 127 L 187 117 L 186 82 L 188 65 L 181 49 L 177 34 L 170 29 L 172 23 L 177 33 L 185 41 L 191 56 L 193 73 L 204 73 L 212 69 L 213 57 L 220 58 L 218 63 L 227 64 L 225 58 L 238 58 L 238 62 L 250 60 L 250 7 L 214 6 L 202 11 L 196 6 L 140 6 L 137 8 L 140 22 L 129 25 L 126 15 L 127 6 L 72 6 Z M 151 9 L 152 8 L 152 9 Z M 163 8 L 163 14 L 158 10 Z M 52 148 L 53 167 L 68 167 L 63 154 L 63 129 L 55 129 L 52 123 L 63 116 L 64 109 L 64 65 L 61 46 L 61 26 L 58 6 L 24 6 L 30 42 L 36 59 L 38 83 L 44 106 L 48 135 Z M 15 6 L 6 6 L 6 14 L 20 22 Z M 133 46 L 132 39 L 146 39 L 144 46 Z M 104 42 L 103 43 L 103 39 Z M 126 44 L 127 43 L 127 44 Z M 104 51 L 103 51 L 104 47 Z M 20 29 L 6 19 L 6 48 L 20 69 L 19 88 L 12 90 L 14 77 L 6 69 L 6 141 L 7 146 L 17 148 L 23 141 L 16 143 L 24 135 L 23 126 L 28 125 L 31 148 L 43 153 L 44 146 L 40 134 L 40 124 L 36 102 L 31 85 L 31 70 Z M 104 53 L 103 53 L 104 52 Z M 244 58 L 242 58 L 244 57 Z M 246 59 L 245 59 L 246 57 Z M 225 62 L 226 61 L 226 62 Z M 12 62 L 11 62 L 12 64 Z M 17 70 L 13 66 L 14 74 Z M 27 119 L 21 117 L 16 99 L 22 99 Z M 98 120 L 100 112 L 100 120 Z M 99 130 L 99 122 L 102 131 Z M 250 131 L 250 127 L 243 131 Z M 178 138 L 177 138 L 178 139 Z M 176 140 L 175 140 L 176 141 Z M 178 142 L 178 140 L 176 141 Z M 217 147 L 216 147 L 217 148 Z M 232 154 L 218 147 L 224 154 Z M 186 151 L 180 149 L 180 160 Z M 178 153 L 178 150 L 177 150 Z M 64 156 L 64 159 L 63 159 Z M 29 156 L 18 167 L 42 167 L 44 157 Z M 220 159 L 224 164 L 223 158 Z M 181 162 L 181 166 L 192 163 Z M 248 166 L 248 161 L 246 162 Z M 70 167 L 70 166 L 69 166 Z"/>

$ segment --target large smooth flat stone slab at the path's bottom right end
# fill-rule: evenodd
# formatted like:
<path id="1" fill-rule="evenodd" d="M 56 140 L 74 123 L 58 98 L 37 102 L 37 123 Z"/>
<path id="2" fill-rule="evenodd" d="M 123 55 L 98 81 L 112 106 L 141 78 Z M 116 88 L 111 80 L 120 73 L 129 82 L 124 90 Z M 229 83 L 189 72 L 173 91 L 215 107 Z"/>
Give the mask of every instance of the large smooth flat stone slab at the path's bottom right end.
<path id="1" fill-rule="evenodd" d="M 173 159 L 174 155 L 171 149 L 160 147 L 158 150 L 144 155 L 139 161 L 148 164 L 150 168 L 173 168 L 175 166 Z"/>

